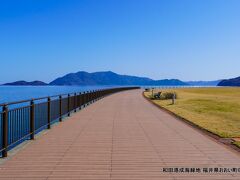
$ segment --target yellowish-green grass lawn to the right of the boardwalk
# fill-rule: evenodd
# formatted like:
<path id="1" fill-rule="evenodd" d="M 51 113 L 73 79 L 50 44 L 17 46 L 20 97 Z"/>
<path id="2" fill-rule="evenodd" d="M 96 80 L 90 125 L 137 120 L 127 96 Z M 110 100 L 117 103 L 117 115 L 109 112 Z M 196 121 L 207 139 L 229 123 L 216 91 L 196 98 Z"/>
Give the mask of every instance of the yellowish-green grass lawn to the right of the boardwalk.
<path id="1" fill-rule="evenodd" d="M 176 92 L 178 99 L 154 103 L 224 138 L 240 137 L 240 88 L 183 88 L 155 90 Z M 151 98 L 151 92 L 144 92 Z M 240 143 L 237 143 L 240 146 Z"/>

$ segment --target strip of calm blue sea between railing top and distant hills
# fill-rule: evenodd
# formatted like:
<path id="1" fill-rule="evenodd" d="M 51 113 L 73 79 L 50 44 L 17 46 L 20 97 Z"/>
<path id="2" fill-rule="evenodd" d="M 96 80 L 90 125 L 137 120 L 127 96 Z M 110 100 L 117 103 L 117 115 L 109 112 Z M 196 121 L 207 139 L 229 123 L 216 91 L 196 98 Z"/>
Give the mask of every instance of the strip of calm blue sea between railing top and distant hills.
<path id="1" fill-rule="evenodd" d="M 0 86 L 0 104 L 111 87 L 113 86 Z"/>

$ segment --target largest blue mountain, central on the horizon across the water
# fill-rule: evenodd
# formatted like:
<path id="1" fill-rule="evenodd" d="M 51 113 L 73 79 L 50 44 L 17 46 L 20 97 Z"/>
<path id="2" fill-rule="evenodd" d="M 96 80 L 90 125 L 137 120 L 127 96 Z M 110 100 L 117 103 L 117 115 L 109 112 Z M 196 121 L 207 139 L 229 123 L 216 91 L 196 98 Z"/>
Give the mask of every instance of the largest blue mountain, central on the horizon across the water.
<path id="1" fill-rule="evenodd" d="M 111 71 L 80 71 L 57 78 L 50 85 L 188 85 L 178 79 L 153 80 L 146 77 L 120 75 Z"/>

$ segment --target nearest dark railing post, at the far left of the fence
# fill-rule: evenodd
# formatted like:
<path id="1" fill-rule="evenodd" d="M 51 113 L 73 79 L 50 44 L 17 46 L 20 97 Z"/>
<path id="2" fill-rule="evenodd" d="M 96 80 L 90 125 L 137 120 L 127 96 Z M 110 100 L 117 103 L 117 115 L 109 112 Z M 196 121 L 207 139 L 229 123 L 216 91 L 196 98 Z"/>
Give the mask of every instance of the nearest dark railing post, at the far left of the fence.
<path id="1" fill-rule="evenodd" d="M 8 107 L 6 105 L 3 106 L 3 126 L 2 126 L 2 157 L 7 157 L 7 148 L 8 148 Z"/>

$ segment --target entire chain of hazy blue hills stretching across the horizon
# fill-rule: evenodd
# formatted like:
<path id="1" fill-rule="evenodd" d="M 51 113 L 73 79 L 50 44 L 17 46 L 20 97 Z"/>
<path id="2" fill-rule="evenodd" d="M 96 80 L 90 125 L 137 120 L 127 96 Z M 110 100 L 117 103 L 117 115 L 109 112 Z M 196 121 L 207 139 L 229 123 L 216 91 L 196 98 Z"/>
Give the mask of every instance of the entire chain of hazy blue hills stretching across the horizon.
<path id="1" fill-rule="evenodd" d="M 15 81 L 2 84 L 4 86 L 240 86 L 240 77 L 213 81 L 181 81 L 179 79 L 154 80 L 148 77 L 121 75 L 112 71 L 88 73 L 79 71 L 45 83 L 35 81 Z"/>

